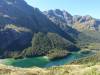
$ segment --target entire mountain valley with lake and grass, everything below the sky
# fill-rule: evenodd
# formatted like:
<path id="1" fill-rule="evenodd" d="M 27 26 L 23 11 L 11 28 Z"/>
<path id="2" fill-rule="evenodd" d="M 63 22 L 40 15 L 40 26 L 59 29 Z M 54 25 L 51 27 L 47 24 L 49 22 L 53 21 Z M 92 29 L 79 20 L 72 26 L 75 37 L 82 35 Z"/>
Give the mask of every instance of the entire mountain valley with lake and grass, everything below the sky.
<path id="1" fill-rule="evenodd" d="M 100 19 L 0 0 L 0 75 L 100 75 Z"/>

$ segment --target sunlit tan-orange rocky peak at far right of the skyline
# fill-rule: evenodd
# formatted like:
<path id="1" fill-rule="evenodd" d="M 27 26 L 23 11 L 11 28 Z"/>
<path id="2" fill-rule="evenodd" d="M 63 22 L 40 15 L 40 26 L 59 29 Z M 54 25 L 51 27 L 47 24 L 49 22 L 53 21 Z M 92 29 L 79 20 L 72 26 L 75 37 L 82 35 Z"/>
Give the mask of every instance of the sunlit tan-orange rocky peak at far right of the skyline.
<path id="1" fill-rule="evenodd" d="M 74 28 L 79 30 L 100 31 L 100 21 L 89 16 L 73 16 Z"/>

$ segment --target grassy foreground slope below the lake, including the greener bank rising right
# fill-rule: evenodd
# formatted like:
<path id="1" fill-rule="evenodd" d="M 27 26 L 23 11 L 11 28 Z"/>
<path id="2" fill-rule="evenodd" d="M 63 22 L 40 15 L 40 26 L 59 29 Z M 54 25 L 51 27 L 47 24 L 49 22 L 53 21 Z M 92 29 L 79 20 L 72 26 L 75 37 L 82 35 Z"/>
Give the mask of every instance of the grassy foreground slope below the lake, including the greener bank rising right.
<path id="1" fill-rule="evenodd" d="M 51 68 L 18 68 L 0 65 L 0 75 L 100 75 L 99 57 L 100 53 L 97 52 L 73 64 Z"/>

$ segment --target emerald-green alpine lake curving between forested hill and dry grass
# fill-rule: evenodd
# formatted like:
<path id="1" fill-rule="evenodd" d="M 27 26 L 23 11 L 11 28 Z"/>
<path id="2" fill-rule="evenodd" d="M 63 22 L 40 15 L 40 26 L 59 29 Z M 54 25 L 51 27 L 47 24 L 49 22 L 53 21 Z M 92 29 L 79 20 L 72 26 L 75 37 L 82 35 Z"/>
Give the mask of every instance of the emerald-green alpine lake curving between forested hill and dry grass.
<path id="1" fill-rule="evenodd" d="M 30 68 L 30 67 L 46 68 L 46 67 L 69 64 L 75 60 L 79 60 L 81 58 L 90 56 L 91 54 L 94 54 L 94 53 L 75 52 L 75 53 L 71 53 L 65 58 L 57 59 L 54 61 L 49 60 L 47 56 L 23 58 L 23 59 L 7 58 L 7 59 L 0 59 L 0 63 L 14 66 L 14 67 L 22 67 L 22 68 Z"/>

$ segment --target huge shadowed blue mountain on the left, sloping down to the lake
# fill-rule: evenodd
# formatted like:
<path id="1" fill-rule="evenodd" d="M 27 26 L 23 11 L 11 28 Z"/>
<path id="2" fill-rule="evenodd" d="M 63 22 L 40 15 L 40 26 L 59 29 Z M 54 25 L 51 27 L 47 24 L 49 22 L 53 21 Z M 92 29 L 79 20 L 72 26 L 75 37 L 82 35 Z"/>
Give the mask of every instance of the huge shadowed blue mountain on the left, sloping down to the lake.
<path id="1" fill-rule="evenodd" d="M 74 29 L 69 27 L 68 30 L 73 31 Z M 41 32 L 43 36 L 41 36 L 39 32 Z M 51 36 L 50 37 L 48 36 L 48 33 L 55 35 L 53 35 L 52 38 Z M 37 37 L 38 44 L 37 42 L 32 43 L 32 40 L 35 38 L 35 34 L 39 35 Z M 36 44 L 37 47 L 40 47 L 37 52 L 39 55 L 41 55 L 41 51 L 42 52 L 45 51 L 42 50 L 42 48 L 44 48 L 45 43 L 47 43 L 47 42 L 44 43 L 43 41 L 45 41 L 45 39 L 42 41 L 42 38 L 46 38 L 47 42 L 48 39 L 49 40 L 53 39 L 52 42 L 53 41 L 56 42 L 56 38 L 58 38 L 59 41 L 63 41 L 56 43 L 54 47 L 51 46 L 50 49 L 58 48 L 57 45 L 63 45 L 63 44 L 65 46 L 63 47 L 63 49 L 65 50 L 67 50 L 66 48 L 67 44 L 69 44 L 69 47 L 73 46 L 73 48 L 77 48 L 77 46 L 75 45 L 76 40 L 70 34 L 66 33 L 55 23 L 49 20 L 38 8 L 29 6 L 24 0 L 0 1 L 1 57 L 2 56 L 12 57 L 19 55 L 23 56 L 27 54 L 34 56 L 33 53 L 35 51 L 34 50 L 35 48 L 33 48 L 34 44 Z M 39 41 L 39 39 L 41 40 Z M 66 43 L 64 43 L 64 40 L 66 41 Z M 41 44 L 43 43 L 43 45 L 39 46 L 40 43 Z M 68 49 L 70 49 L 69 47 Z"/>

